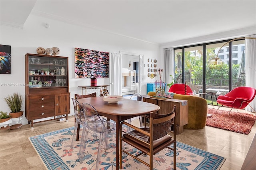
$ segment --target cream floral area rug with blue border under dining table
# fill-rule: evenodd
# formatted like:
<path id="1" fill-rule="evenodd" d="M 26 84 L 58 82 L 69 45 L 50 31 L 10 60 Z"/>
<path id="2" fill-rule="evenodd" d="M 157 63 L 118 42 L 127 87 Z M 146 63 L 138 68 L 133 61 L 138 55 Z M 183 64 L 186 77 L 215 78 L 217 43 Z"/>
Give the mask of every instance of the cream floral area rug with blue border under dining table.
<path id="1" fill-rule="evenodd" d="M 94 170 L 97 154 L 98 140 L 90 136 L 86 146 L 83 163 L 79 163 L 78 152 L 80 141 L 75 141 L 74 148 L 70 149 L 74 127 L 29 137 L 34 149 L 49 170 Z M 80 132 L 82 134 L 82 132 Z M 100 170 L 116 169 L 116 141 L 115 136 L 108 138 L 109 149 L 100 150 Z M 128 147 L 124 145 L 124 147 Z M 102 146 L 102 148 L 104 148 Z M 130 152 L 138 152 L 128 148 Z M 138 152 L 139 153 L 139 152 Z M 148 160 L 147 155 L 142 155 Z M 164 149 L 154 156 L 154 170 L 172 170 L 173 152 Z M 177 142 L 177 169 L 181 170 L 218 170 L 226 158 Z M 146 170 L 144 164 L 132 157 L 123 158 L 123 169 Z"/>

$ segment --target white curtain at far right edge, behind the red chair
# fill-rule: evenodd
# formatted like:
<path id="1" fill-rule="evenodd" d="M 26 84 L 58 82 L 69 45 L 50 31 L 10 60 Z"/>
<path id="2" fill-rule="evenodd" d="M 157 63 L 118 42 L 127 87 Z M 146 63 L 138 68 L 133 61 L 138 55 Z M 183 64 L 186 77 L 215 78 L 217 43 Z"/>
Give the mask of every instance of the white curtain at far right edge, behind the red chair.
<path id="1" fill-rule="evenodd" d="M 256 38 L 256 35 L 251 35 L 247 36 L 250 38 Z M 245 75 L 246 75 L 246 86 L 248 87 L 253 87 L 256 89 L 256 40 L 253 39 L 245 39 L 245 51 L 246 51 L 246 70 L 245 70 Z M 256 110 L 256 99 L 250 103 L 252 108 Z M 252 112 L 252 109 L 250 106 L 246 107 L 246 111 Z"/>

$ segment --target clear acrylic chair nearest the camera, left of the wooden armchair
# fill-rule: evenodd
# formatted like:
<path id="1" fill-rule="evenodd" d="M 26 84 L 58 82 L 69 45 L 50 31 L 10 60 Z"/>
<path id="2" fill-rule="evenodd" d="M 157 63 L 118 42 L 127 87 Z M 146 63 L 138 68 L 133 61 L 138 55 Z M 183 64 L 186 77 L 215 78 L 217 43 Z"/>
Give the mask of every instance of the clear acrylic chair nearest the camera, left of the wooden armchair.
<path id="1" fill-rule="evenodd" d="M 110 122 L 110 121 L 102 121 L 100 119 L 100 116 L 98 115 L 98 112 L 95 110 L 95 108 L 88 104 L 83 103 L 82 104 L 83 110 L 84 110 L 84 117 L 86 119 L 86 127 L 87 130 L 85 132 L 84 138 L 82 138 L 81 146 L 80 146 L 80 163 L 83 162 L 83 156 L 84 156 L 84 150 L 86 149 L 86 144 L 88 140 L 88 131 L 92 132 L 93 134 L 99 136 L 99 145 L 98 145 L 98 156 L 97 156 L 97 162 L 96 162 L 96 170 L 98 170 L 98 164 L 100 160 L 100 148 L 102 144 L 102 140 L 104 140 L 105 148 L 109 148 L 108 146 L 108 139 L 107 136 L 116 134 L 116 123 Z"/>

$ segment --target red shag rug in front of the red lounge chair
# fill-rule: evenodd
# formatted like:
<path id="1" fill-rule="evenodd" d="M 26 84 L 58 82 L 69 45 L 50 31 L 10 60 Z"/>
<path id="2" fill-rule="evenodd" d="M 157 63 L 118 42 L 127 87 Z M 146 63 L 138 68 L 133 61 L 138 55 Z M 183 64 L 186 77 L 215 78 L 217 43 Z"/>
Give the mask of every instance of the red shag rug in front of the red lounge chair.
<path id="1" fill-rule="evenodd" d="M 208 108 L 212 117 L 206 119 L 206 126 L 222 128 L 237 133 L 249 134 L 256 120 L 255 115 Z"/>

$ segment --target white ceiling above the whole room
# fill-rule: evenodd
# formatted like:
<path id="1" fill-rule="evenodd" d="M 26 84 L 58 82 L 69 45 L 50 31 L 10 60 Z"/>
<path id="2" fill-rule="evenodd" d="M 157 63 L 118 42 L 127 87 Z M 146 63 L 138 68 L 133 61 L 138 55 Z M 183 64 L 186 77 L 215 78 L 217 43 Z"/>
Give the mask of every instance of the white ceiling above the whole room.
<path id="1" fill-rule="evenodd" d="M 256 0 L 0 0 L 1 24 L 23 28 L 30 14 L 162 44 L 256 29 Z"/>

